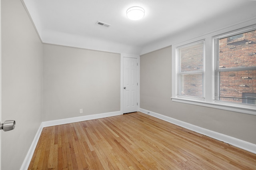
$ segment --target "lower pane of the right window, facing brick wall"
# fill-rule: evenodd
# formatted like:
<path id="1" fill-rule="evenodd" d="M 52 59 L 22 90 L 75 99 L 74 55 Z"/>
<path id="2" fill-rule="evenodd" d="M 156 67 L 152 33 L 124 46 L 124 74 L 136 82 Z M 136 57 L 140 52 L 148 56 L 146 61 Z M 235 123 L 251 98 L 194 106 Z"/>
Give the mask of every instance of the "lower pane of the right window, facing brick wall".
<path id="1" fill-rule="evenodd" d="M 256 70 L 225 71 L 217 74 L 217 100 L 255 105 Z"/>

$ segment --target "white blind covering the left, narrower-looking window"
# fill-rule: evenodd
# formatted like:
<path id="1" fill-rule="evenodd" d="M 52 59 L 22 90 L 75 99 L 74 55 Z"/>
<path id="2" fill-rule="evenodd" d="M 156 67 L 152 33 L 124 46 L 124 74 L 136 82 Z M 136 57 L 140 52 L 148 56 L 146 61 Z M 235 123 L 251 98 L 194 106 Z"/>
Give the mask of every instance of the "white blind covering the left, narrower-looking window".
<path id="1" fill-rule="evenodd" d="M 177 95 L 204 99 L 204 40 L 176 48 Z"/>

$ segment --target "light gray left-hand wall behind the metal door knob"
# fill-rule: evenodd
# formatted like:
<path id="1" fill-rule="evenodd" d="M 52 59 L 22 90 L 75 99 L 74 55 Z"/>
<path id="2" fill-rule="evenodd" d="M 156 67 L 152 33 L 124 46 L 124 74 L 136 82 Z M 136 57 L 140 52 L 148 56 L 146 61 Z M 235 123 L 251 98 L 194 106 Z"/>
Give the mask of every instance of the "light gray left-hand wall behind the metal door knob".
<path id="1" fill-rule="evenodd" d="M 2 5 L 2 170 L 20 169 L 42 122 L 42 43 L 20 0 Z"/>

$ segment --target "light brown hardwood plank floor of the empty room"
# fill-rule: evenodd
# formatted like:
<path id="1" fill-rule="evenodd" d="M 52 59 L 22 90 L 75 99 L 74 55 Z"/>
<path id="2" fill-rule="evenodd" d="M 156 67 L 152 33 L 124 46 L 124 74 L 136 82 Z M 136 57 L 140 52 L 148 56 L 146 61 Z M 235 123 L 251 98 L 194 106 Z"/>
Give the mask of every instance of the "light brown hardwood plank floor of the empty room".
<path id="1" fill-rule="evenodd" d="M 256 154 L 137 112 L 44 128 L 28 169 L 256 170 Z"/>

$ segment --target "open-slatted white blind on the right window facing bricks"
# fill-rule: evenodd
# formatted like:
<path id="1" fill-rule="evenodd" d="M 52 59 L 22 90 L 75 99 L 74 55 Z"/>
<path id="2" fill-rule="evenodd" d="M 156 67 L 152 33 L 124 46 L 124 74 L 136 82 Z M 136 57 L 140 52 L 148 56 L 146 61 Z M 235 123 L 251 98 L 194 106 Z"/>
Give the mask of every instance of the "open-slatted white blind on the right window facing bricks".
<path id="1" fill-rule="evenodd" d="M 214 38 L 214 99 L 256 105 L 256 30 Z"/>

